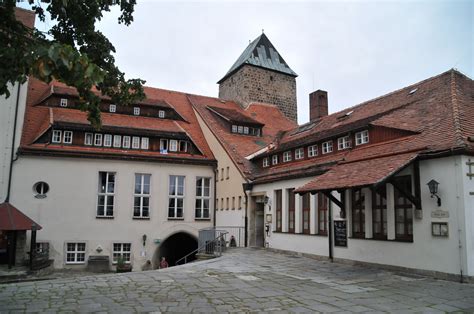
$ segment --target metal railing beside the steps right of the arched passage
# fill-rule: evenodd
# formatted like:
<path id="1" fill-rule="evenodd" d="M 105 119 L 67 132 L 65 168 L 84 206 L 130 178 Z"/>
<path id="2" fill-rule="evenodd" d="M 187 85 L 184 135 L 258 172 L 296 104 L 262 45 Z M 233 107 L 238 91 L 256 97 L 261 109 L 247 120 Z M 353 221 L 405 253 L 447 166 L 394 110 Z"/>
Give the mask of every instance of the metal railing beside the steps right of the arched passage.
<path id="1" fill-rule="evenodd" d="M 188 262 L 188 258 L 194 254 L 209 254 L 214 256 L 221 256 L 226 249 L 226 235 L 225 230 L 216 230 L 214 228 L 207 228 L 199 230 L 199 245 L 198 248 L 183 256 L 176 261 L 175 265 L 184 265 Z M 183 262 L 180 264 L 181 262 Z"/>

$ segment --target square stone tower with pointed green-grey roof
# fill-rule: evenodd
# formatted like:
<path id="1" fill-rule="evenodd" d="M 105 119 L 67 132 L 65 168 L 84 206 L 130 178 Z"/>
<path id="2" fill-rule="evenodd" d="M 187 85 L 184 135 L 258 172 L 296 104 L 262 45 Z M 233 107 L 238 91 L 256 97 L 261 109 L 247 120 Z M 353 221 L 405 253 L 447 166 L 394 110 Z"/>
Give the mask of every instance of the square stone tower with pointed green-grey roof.
<path id="1" fill-rule="evenodd" d="M 297 76 L 262 34 L 248 45 L 217 82 L 219 98 L 233 100 L 244 108 L 252 102 L 274 104 L 285 116 L 297 122 Z"/>

